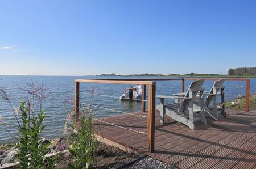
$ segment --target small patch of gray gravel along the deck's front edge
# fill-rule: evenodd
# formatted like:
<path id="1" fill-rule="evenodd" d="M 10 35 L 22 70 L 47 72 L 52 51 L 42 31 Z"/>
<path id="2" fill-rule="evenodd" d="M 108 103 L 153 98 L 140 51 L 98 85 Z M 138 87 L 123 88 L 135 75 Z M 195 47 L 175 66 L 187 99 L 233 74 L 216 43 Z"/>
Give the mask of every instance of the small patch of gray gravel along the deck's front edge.
<path id="1" fill-rule="evenodd" d="M 160 162 L 157 159 L 151 158 L 151 157 L 144 157 L 143 159 L 139 160 L 138 162 L 135 162 L 133 164 L 131 164 L 131 166 L 127 166 L 125 168 L 154 168 L 154 169 L 165 169 L 165 168 L 172 168 L 172 169 L 176 169 L 176 167 L 171 166 L 169 164 Z"/>

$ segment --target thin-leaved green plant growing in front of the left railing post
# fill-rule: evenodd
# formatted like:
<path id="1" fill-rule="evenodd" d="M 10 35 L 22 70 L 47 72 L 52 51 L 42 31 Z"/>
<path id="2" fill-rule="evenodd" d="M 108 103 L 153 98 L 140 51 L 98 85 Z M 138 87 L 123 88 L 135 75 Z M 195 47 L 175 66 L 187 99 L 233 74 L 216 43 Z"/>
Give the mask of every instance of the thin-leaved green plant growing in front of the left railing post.
<path id="1" fill-rule="evenodd" d="M 94 126 L 94 114 L 91 108 L 81 109 L 79 119 L 73 122 L 69 149 L 73 162 L 69 168 L 89 168 L 96 154 L 97 128 Z"/>

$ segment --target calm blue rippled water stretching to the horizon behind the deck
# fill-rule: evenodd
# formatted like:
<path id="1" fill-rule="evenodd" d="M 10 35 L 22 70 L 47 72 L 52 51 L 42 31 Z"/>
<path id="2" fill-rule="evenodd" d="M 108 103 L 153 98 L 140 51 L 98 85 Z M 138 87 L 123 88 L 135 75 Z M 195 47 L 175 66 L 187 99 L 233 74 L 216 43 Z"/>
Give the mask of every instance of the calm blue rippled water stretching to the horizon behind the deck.
<path id="1" fill-rule="evenodd" d="M 49 118 L 45 121 L 46 132 L 44 136 L 47 138 L 55 138 L 63 135 L 63 127 L 65 123 L 65 117 L 67 116 L 67 110 L 65 109 L 64 100 L 69 96 L 74 95 L 75 82 L 74 79 L 88 79 L 88 78 L 113 78 L 113 77 L 52 77 L 52 76 L 1 76 L 0 86 L 6 88 L 7 91 L 12 91 L 11 102 L 15 107 L 18 107 L 19 100 L 26 98 L 27 94 L 21 88 L 27 87 L 27 83 L 31 82 L 31 79 L 36 84 L 44 84 L 47 92 L 50 93 L 46 101 L 43 102 L 43 107 L 46 109 L 46 113 Z M 118 79 L 127 77 L 115 77 Z M 130 77 L 129 77 L 130 78 Z M 136 78 L 136 77 L 133 77 Z M 142 78 L 142 77 L 139 77 Z M 145 77 L 148 78 L 148 77 Z M 185 81 L 185 88 L 187 89 L 191 81 Z M 206 81 L 204 88 L 209 91 L 213 81 Z M 250 91 L 256 93 L 256 79 L 251 79 Z M 126 88 L 129 88 L 129 84 L 96 84 L 96 83 L 81 83 L 80 84 L 80 99 L 82 103 L 88 103 L 89 93 L 91 88 L 96 88 L 97 94 L 110 95 L 119 97 L 122 95 Z M 225 97 L 226 99 L 234 99 L 238 95 L 245 95 L 245 82 L 243 81 L 226 81 L 225 85 Z M 180 92 L 180 81 L 158 81 L 156 82 L 156 94 L 172 95 L 175 92 Z M 158 100 L 156 100 L 158 102 Z M 118 98 L 106 98 L 103 96 L 93 96 L 91 104 L 100 105 L 101 107 L 111 108 L 119 111 L 134 112 L 141 109 L 140 102 L 120 101 Z M 66 105 L 68 106 L 68 105 Z M 99 109 L 96 116 L 106 117 L 118 115 L 119 113 L 106 111 Z M 14 125 L 15 117 L 10 109 L 10 106 L 5 100 L 0 99 L 0 115 L 3 117 L 4 122 L 9 125 L 10 131 L 15 132 Z M 0 125 L 0 143 L 8 142 L 9 134 L 3 125 Z"/>

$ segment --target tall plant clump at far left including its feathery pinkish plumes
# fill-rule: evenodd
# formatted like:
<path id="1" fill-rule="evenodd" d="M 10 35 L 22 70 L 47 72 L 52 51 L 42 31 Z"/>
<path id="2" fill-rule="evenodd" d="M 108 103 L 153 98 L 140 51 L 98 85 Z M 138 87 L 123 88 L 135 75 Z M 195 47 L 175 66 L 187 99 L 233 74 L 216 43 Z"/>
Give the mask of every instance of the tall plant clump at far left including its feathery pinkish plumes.
<path id="1" fill-rule="evenodd" d="M 10 133 L 7 125 L 4 124 L 14 143 L 16 143 L 17 154 L 16 158 L 19 159 L 20 168 L 54 168 L 56 166 L 56 154 L 53 157 L 47 157 L 49 153 L 48 146 L 51 143 L 45 144 L 40 136 L 45 128 L 43 121 L 47 116 L 44 115 L 42 110 L 42 101 L 46 98 L 43 85 L 35 86 L 32 82 L 28 84 L 28 88 L 24 89 L 32 99 L 27 98 L 26 101 L 20 101 L 19 108 L 13 107 L 10 102 L 10 93 L 7 94 L 5 88 L 0 88 L 0 95 L 10 107 L 13 109 L 18 129 L 18 133 Z M 35 99 L 40 100 L 38 112 L 35 108 Z M 31 101 L 32 100 L 32 101 Z"/>

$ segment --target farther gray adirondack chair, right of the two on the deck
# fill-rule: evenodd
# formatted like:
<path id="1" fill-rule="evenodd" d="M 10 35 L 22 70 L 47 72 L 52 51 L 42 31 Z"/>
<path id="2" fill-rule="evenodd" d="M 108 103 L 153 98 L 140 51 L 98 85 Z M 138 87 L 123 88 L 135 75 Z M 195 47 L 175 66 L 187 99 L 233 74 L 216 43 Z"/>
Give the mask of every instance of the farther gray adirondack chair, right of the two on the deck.
<path id="1" fill-rule="evenodd" d="M 207 113 L 207 116 L 212 117 L 214 120 L 218 120 L 218 114 L 221 114 L 223 117 L 226 117 L 225 112 L 225 95 L 224 95 L 224 86 L 223 83 L 225 79 L 218 80 L 214 82 L 209 93 L 205 92 L 207 98 L 204 102 L 204 110 Z M 219 92 L 220 91 L 220 92 Z M 217 108 L 217 96 L 221 96 L 221 107 Z"/>

